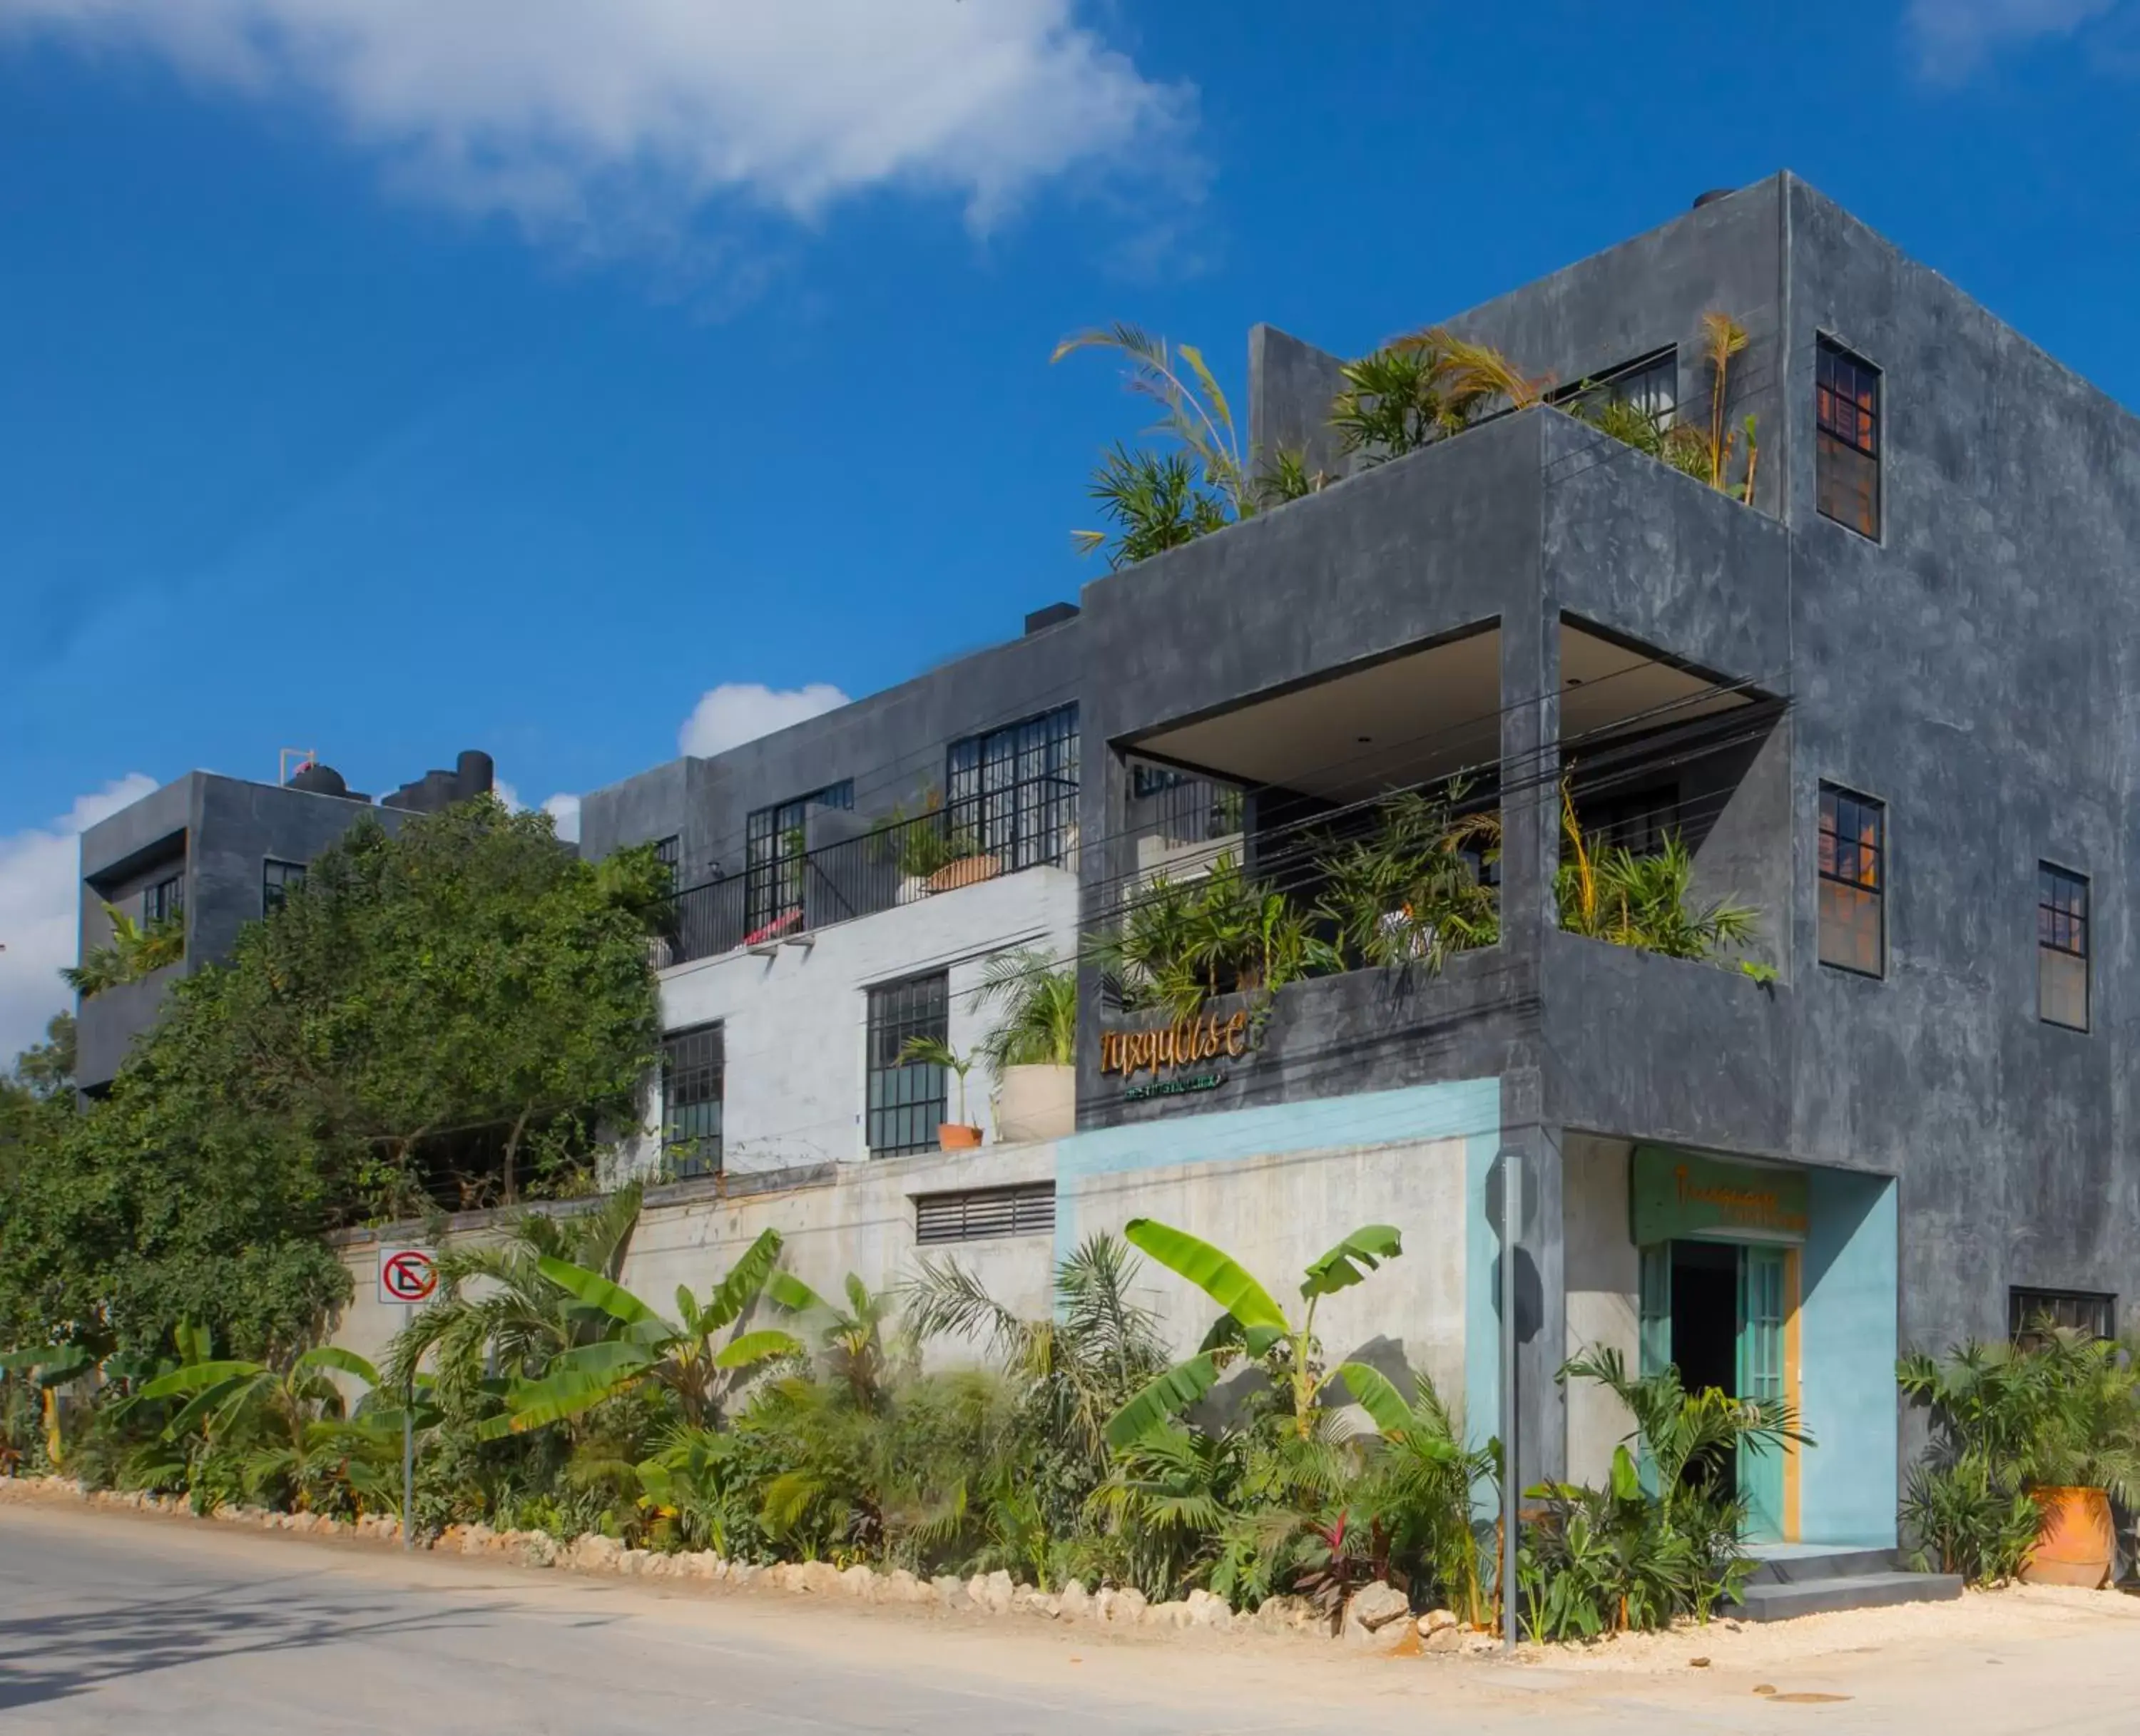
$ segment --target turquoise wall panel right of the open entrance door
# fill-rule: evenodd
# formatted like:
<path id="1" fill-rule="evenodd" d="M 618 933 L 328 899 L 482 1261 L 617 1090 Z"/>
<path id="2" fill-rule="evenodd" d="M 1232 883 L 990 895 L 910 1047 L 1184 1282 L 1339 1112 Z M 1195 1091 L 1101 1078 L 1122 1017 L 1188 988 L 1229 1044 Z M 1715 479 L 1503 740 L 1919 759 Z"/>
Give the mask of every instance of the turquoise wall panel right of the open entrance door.
<path id="1" fill-rule="evenodd" d="M 1819 1443 L 1800 1473 L 1808 1543 L 1894 1545 L 1896 1186 L 1815 1169 L 1800 1299 L 1804 1423 Z"/>

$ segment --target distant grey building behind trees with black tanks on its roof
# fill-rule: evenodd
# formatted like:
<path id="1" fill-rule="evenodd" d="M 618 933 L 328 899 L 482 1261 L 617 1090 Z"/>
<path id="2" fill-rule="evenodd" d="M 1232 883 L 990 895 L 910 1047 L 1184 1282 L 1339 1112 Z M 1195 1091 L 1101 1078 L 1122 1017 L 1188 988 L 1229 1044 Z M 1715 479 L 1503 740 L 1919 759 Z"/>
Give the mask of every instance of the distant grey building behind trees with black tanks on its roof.
<path id="1" fill-rule="evenodd" d="M 101 1092 L 126 1049 L 163 1006 L 169 985 L 225 959 L 304 880 L 306 865 L 360 818 L 400 826 L 490 790 L 490 756 L 467 751 L 454 771 L 432 771 L 374 805 L 332 766 L 302 762 L 285 783 L 253 783 L 193 771 L 98 820 L 81 835 L 81 953 L 111 940 L 111 916 L 150 927 L 184 925 L 184 957 L 83 1000 L 75 1023 L 75 1083 Z"/>

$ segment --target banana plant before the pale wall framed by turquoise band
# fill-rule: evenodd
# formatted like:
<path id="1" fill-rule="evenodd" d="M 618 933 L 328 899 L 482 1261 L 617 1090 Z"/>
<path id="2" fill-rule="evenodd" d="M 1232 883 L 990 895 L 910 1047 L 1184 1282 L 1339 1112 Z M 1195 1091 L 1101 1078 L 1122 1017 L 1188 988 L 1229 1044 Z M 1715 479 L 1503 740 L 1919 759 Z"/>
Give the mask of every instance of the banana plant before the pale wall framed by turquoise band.
<path id="1" fill-rule="evenodd" d="M 1391 1224 L 1365 1224 L 1308 1265 L 1301 1278 L 1305 1308 L 1299 1321 L 1278 1306 L 1248 1267 L 1188 1231 L 1156 1218 L 1130 1218 L 1124 1235 L 1168 1271 L 1188 1278 L 1226 1314 L 1205 1340 L 1205 1349 L 1188 1361 L 1177 1361 L 1115 1413 L 1106 1438 L 1117 1451 L 1211 1391 L 1224 1357 L 1235 1346 L 1258 1359 L 1278 1355 L 1293 1387 L 1293 1428 L 1301 1441 L 1314 1432 L 1316 1402 L 1338 1379 L 1376 1428 L 1400 1430 L 1410 1421 L 1404 1396 L 1367 1364 L 1344 1361 L 1323 1372 L 1314 1366 L 1316 1306 L 1327 1295 L 1365 1282 L 1382 1261 L 1404 1252 L 1404 1242 Z"/>

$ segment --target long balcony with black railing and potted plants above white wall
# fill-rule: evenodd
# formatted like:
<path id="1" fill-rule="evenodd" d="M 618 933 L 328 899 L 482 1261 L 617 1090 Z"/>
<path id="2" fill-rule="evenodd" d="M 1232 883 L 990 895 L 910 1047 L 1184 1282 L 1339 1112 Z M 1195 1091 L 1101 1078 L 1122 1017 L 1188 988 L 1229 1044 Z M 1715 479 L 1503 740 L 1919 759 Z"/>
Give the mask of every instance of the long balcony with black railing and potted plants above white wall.
<path id="1" fill-rule="evenodd" d="M 835 923 L 854 923 L 901 905 L 980 886 L 1031 867 L 1076 871 L 1076 786 L 1021 798 L 972 816 L 931 811 L 914 820 L 856 820 L 815 811 L 813 824 L 865 826 L 852 837 L 779 850 L 743 873 L 676 893 L 668 933 L 655 940 L 655 968 L 728 953 L 777 953 L 807 946 Z"/>

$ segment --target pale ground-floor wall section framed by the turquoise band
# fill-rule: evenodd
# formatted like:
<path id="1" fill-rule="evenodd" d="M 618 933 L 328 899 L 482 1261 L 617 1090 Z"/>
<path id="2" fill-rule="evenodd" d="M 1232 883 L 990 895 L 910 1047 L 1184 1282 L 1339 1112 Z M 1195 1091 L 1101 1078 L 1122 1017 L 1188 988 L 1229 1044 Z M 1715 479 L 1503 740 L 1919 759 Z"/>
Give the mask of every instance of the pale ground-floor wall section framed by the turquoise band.
<path id="1" fill-rule="evenodd" d="M 1064 1207 L 1068 1209 L 1068 1207 Z M 1451 1406 L 1464 1400 L 1464 1139 L 1286 1152 L 1220 1162 L 1124 1169 L 1076 1182 L 1076 1235 L 1121 1233 L 1158 1218 L 1224 1248 L 1278 1301 L 1301 1306 L 1312 1259 L 1370 1222 L 1397 1224 L 1404 1254 L 1316 1310 L 1325 1361 L 1361 1355 L 1395 1374 L 1419 1368 Z M 1143 1263 L 1141 1301 L 1192 1351 L 1218 1308 L 1171 1271 Z"/>

